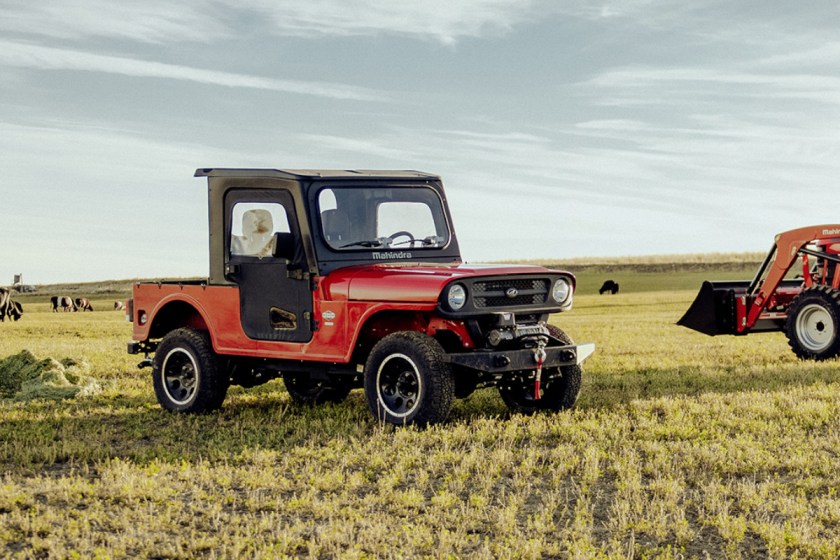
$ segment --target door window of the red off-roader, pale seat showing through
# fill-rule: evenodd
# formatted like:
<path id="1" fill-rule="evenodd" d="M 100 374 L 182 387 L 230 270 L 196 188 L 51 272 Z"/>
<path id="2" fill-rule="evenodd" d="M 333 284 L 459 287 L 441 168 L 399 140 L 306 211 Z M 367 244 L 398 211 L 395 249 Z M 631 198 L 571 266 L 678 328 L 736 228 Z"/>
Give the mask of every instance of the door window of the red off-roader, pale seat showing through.
<path id="1" fill-rule="evenodd" d="M 233 207 L 230 253 L 269 257 L 274 252 L 274 234 L 289 232 L 289 217 L 281 204 L 239 202 Z"/>

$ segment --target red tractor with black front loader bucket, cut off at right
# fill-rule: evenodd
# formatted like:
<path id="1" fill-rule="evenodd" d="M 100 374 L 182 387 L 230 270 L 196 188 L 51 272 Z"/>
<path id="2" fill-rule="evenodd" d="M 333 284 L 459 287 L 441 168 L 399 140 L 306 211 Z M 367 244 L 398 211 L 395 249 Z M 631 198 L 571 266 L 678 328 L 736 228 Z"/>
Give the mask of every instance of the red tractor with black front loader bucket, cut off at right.
<path id="1" fill-rule="evenodd" d="M 778 234 L 752 281 L 704 282 L 677 324 L 711 336 L 784 331 L 802 359 L 840 355 L 840 225 Z"/>

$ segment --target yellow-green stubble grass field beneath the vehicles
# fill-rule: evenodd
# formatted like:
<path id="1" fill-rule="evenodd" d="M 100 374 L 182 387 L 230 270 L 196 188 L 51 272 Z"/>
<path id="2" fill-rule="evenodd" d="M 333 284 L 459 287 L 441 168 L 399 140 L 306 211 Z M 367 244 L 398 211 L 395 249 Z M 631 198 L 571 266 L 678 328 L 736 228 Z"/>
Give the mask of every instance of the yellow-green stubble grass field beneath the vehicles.
<path id="1" fill-rule="evenodd" d="M 0 400 L 0 556 L 838 558 L 840 364 L 674 325 L 701 279 L 751 268 L 582 267 L 554 321 L 598 345 L 578 406 L 510 415 L 483 390 L 427 430 L 377 424 L 359 391 L 298 408 L 279 381 L 168 414 L 122 312 L 28 295 L 0 358 L 83 359 L 104 390 Z"/>

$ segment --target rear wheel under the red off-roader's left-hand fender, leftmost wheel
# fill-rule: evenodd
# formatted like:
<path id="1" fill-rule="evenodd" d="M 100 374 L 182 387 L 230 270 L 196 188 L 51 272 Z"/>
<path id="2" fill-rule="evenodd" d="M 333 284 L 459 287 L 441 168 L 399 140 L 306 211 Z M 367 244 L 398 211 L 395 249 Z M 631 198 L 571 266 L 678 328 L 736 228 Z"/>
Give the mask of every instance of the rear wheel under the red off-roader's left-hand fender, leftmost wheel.
<path id="1" fill-rule="evenodd" d="M 205 412 L 222 406 L 229 380 L 207 333 L 176 329 L 155 352 L 152 384 L 160 405 L 173 412 Z"/>

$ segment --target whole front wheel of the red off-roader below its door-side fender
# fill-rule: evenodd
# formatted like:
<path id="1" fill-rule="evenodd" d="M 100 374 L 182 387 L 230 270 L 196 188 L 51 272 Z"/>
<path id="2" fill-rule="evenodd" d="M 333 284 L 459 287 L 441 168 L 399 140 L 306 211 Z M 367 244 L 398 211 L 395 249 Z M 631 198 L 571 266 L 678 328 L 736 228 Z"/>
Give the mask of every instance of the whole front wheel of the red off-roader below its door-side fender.
<path id="1" fill-rule="evenodd" d="M 420 426 L 446 420 L 455 382 L 444 350 L 419 332 L 397 332 L 376 343 L 365 364 L 371 412 L 391 424 Z"/>

